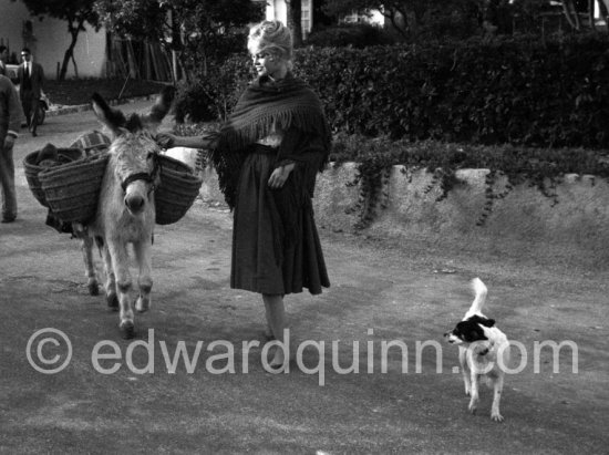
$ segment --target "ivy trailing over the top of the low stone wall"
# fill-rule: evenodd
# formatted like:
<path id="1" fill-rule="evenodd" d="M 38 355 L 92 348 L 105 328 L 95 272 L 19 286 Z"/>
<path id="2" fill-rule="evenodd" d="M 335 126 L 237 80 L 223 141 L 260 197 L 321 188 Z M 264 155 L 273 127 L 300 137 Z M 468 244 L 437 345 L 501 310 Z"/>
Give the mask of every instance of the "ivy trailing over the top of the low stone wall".
<path id="1" fill-rule="evenodd" d="M 566 174 L 593 175 L 609 180 L 609 159 L 598 151 L 582 148 L 527 148 L 513 145 L 483 146 L 448 144 L 435 141 L 410 143 L 392 141 L 386 136 L 367 138 L 340 134 L 334 138 L 331 161 L 358 163 L 358 174 L 352 185 L 358 184 L 359 201 L 352 211 L 359 217 L 357 228 L 365 228 L 379 208 L 388 204 L 386 192 L 391 167 L 403 165 L 407 169 L 426 169 L 433 179 L 426 193 L 440 186 L 437 201 L 446 198 L 461 182 L 456 170 L 486 168 L 486 204 L 477 220 L 483 226 L 495 203 L 506 197 L 518 184 L 535 186 L 546 197 L 558 204 L 556 186 Z M 406 173 L 406 169 L 403 169 Z M 499 176 L 507 177 L 505 187 L 497 192 Z"/>

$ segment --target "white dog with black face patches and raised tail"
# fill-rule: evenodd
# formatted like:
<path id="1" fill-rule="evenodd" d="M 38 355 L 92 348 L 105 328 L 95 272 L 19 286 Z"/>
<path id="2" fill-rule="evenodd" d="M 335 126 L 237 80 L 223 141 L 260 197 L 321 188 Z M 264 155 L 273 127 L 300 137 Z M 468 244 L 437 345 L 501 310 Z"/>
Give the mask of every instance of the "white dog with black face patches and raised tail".
<path id="1" fill-rule="evenodd" d="M 504 332 L 495 327 L 495 320 L 482 313 L 486 300 L 486 286 L 479 278 L 472 280 L 475 298 L 472 308 L 456 327 L 444 333 L 450 343 L 458 347 L 458 361 L 465 383 L 465 394 L 471 396 L 469 412 L 475 413 L 478 404 L 478 380 L 485 376 L 486 384 L 494 390 L 491 418 L 502 422 L 499 400 L 504 386 L 505 368 L 509 361 L 509 342 Z"/>

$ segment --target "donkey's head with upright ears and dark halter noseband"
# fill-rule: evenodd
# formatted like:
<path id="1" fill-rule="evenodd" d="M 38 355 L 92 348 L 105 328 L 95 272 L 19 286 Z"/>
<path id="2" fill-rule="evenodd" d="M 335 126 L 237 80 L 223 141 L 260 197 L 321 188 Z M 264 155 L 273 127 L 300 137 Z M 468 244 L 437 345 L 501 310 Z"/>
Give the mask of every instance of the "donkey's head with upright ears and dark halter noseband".
<path id="1" fill-rule="evenodd" d="M 123 201 L 133 215 L 142 213 L 152 200 L 157 177 L 155 141 L 156 128 L 169 112 L 175 90 L 165 87 L 147 114 L 125 115 L 112 108 L 97 93 L 93 94 L 93 110 L 97 118 L 110 130 L 110 147 L 113 178 L 123 192 Z"/>

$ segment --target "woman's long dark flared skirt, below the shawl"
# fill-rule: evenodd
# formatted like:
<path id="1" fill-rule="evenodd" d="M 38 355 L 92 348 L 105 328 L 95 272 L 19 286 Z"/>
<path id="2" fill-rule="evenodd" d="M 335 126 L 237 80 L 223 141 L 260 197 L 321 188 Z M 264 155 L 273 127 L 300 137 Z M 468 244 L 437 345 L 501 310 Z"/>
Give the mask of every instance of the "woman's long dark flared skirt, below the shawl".
<path id="1" fill-rule="evenodd" d="M 302 288 L 312 294 L 321 293 L 330 280 L 310 198 L 296 213 L 295 225 L 287 226 L 273 195 L 279 189 L 268 186 L 273 163 L 272 154 L 251 153 L 241 168 L 233 228 L 230 287 L 266 294 L 302 292 Z M 283 190 L 289 190 L 298 180 L 295 172 Z"/>

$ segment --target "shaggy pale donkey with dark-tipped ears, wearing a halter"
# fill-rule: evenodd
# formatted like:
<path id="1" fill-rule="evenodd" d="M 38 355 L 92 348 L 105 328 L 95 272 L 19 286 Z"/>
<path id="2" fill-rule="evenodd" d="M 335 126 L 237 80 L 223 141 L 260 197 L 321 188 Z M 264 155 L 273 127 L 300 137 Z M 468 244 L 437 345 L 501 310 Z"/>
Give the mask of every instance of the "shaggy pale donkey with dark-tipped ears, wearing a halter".
<path id="1" fill-rule="evenodd" d="M 133 282 L 128 270 L 127 245 L 133 251 L 140 276 L 140 296 L 135 310 L 144 312 L 151 307 L 151 247 L 155 226 L 154 189 L 158 168 L 156 156 L 159 146 L 154 139 L 156 128 L 169 112 L 174 89 L 166 87 L 146 115 L 125 115 L 93 94 L 93 110 L 111 133 L 110 159 L 102 182 L 97 213 L 87 225 L 89 238 L 100 248 L 106 275 L 107 306 L 120 310 L 121 334 L 130 339 L 135 334 L 133 303 L 130 290 Z M 83 241 L 90 290 L 96 287 L 90 239 Z"/>

